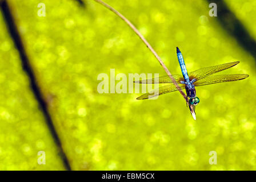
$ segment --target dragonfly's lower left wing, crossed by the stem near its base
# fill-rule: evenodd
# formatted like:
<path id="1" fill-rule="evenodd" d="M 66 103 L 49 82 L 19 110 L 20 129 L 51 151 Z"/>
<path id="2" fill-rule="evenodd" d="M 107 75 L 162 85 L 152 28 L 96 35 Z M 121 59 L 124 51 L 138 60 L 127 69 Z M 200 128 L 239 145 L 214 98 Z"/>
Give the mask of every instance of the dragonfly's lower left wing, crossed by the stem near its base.
<path id="1" fill-rule="evenodd" d="M 185 84 L 179 84 L 179 87 L 181 89 L 185 89 Z M 165 85 L 165 86 L 159 87 L 158 89 L 154 89 L 149 93 L 145 93 L 142 96 L 139 96 L 137 99 L 142 100 L 142 99 L 147 99 L 151 97 L 156 97 L 165 93 L 174 92 L 176 90 L 178 89 L 175 87 L 175 85 Z"/>

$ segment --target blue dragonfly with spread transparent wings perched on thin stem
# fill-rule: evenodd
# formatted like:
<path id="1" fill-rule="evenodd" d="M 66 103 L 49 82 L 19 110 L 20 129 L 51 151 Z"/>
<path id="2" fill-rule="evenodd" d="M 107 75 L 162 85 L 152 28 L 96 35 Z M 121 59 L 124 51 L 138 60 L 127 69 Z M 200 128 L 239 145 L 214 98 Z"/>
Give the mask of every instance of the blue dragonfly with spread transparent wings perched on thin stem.
<path id="1" fill-rule="evenodd" d="M 237 65 L 239 61 L 220 64 L 213 67 L 201 68 L 194 72 L 187 73 L 187 69 L 186 69 L 185 62 L 183 60 L 182 53 L 181 51 L 179 51 L 178 47 L 177 47 L 177 56 L 178 56 L 179 66 L 181 67 L 182 76 L 173 75 L 173 77 L 181 89 L 186 89 L 187 100 L 189 98 L 189 105 L 193 105 L 194 108 L 199 103 L 199 98 L 195 94 L 195 86 L 217 84 L 220 82 L 228 82 L 228 81 L 237 81 L 237 80 L 242 80 L 249 77 L 249 75 L 246 75 L 246 74 L 213 75 L 214 73 L 221 72 L 227 68 L 234 67 L 234 65 Z M 174 92 L 178 90 L 173 84 L 173 82 L 171 81 L 169 76 L 161 76 L 158 78 L 153 78 L 148 80 L 139 80 L 134 82 L 139 84 L 168 84 L 165 86 L 161 86 L 158 89 L 152 90 L 149 93 L 145 93 L 142 96 L 139 96 L 137 98 L 138 100 L 156 97 L 165 93 Z"/>

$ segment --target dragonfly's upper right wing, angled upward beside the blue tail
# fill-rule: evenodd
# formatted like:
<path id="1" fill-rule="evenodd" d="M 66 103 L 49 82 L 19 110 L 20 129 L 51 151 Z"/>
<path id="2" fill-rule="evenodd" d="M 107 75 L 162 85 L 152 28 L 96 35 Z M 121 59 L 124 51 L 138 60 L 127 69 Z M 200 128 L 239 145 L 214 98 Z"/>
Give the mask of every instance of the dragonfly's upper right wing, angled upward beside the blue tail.
<path id="1" fill-rule="evenodd" d="M 220 65 L 213 66 L 213 67 L 201 68 L 194 72 L 189 73 L 189 78 L 190 78 L 190 80 L 193 80 L 193 78 L 200 80 L 206 76 L 213 75 L 214 73 L 223 71 L 227 68 L 234 67 L 234 65 L 237 65 L 238 63 L 240 63 L 240 62 L 235 61 L 232 63 L 220 64 Z"/>

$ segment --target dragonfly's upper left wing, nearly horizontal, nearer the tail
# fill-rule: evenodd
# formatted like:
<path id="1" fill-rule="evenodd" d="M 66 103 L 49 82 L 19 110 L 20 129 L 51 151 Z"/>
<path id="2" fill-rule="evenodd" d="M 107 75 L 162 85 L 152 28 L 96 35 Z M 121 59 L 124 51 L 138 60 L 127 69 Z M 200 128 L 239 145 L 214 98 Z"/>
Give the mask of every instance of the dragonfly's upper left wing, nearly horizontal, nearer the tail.
<path id="1" fill-rule="evenodd" d="M 176 82 L 184 81 L 184 78 L 181 75 L 173 75 L 173 78 Z M 173 84 L 173 82 L 171 81 L 171 78 L 168 75 L 161 76 L 158 78 L 147 79 L 147 80 L 134 81 L 134 82 L 138 84 Z"/>

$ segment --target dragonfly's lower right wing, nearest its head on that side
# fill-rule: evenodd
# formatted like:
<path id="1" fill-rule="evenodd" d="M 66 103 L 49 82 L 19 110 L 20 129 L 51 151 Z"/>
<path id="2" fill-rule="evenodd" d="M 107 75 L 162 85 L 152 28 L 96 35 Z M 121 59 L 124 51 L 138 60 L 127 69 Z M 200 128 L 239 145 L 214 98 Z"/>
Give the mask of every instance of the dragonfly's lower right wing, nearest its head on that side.
<path id="1" fill-rule="evenodd" d="M 246 74 L 233 74 L 233 75 L 213 75 L 209 77 L 202 78 L 201 80 L 195 81 L 195 86 L 203 86 L 203 85 L 210 85 L 210 84 L 217 84 L 221 82 L 228 82 L 228 81 L 237 81 L 243 80 L 249 77 Z"/>

